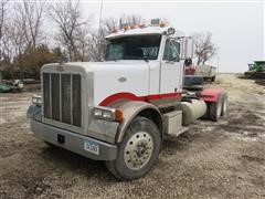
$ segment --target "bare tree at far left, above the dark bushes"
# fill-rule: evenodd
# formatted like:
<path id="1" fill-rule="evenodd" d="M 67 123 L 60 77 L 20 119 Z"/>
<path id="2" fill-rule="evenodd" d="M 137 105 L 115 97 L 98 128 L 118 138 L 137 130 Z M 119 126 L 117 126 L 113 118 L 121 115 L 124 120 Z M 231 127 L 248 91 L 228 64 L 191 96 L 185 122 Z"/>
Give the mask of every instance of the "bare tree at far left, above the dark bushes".
<path id="1" fill-rule="evenodd" d="M 4 59 L 9 60 L 8 71 L 11 76 L 15 71 L 26 71 L 20 67 L 18 57 L 24 52 L 26 48 L 33 51 L 43 41 L 43 14 L 45 2 L 41 0 L 12 2 L 10 3 L 9 19 L 2 25 L 4 34 L 1 38 L 1 50 Z M 32 57 L 33 59 L 33 57 Z M 35 65 L 38 67 L 38 65 Z"/>

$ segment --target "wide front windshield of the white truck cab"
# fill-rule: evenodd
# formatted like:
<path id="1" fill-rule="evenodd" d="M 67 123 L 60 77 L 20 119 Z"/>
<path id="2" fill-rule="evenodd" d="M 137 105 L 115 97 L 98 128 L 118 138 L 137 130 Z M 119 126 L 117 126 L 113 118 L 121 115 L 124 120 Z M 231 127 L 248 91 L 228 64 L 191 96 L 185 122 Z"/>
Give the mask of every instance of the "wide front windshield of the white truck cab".
<path id="1" fill-rule="evenodd" d="M 160 41 L 160 35 L 113 39 L 107 44 L 105 60 L 157 60 Z"/>

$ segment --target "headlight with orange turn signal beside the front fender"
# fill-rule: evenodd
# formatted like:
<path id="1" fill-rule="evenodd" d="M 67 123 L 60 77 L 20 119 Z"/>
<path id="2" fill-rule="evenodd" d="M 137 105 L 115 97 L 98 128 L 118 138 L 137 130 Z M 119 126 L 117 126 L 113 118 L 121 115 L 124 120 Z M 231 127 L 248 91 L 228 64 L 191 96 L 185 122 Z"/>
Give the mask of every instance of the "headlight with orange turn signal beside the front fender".
<path id="1" fill-rule="evenodd" d="M 94 117 L 97 119 L 120 122 L 124 119 L 124 114 L 120 109 L 116 108 L 95 107 Z"/>

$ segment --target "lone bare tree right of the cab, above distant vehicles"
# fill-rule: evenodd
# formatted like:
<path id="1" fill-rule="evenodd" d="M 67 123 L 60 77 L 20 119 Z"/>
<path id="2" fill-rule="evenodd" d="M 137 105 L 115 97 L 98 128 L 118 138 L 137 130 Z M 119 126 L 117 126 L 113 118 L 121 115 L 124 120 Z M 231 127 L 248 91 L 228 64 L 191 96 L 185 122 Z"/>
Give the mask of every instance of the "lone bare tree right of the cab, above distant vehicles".
<path id="1" fill-rule="evenodd" d="M 212 34 L 210 32 L 194 33 L 192 36 L 194 40 L 197 65 L 204 64 L 218 53 L 218 48 L 212 43 Z"/>

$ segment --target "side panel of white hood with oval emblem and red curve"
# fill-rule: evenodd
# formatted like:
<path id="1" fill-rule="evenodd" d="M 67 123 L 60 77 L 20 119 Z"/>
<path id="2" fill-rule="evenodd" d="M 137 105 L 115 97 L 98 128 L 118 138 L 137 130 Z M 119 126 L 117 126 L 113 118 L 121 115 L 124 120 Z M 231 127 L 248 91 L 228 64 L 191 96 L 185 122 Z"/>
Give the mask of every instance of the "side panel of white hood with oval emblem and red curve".
<path id="1" fill-rule="evenodd" d="M 149 64 L 145 61 L 89 63 L 93 73 L 94 105 L 108 105 L 125 94 L 146 96 L 149 93 Z"/>

